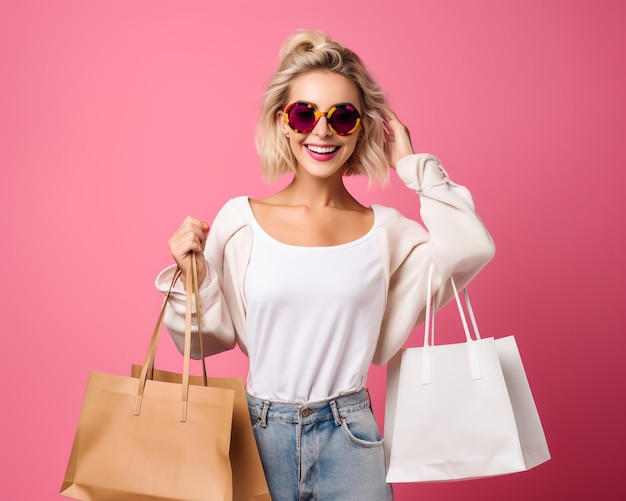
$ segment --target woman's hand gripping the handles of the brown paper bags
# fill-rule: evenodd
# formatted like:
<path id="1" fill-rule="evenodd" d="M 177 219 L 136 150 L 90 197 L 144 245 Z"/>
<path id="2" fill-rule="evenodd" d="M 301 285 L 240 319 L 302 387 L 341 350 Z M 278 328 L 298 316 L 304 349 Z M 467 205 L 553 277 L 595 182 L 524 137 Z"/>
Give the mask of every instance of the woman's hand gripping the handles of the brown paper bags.
<path id="1" fill-rule="evenodd" d="M 209 224 L 195 217 L 188 216 L 182 222 L 176 233 L 169 239 L 170 252 L 178 267 L 182 270 L 181 280 L 185 282 L 185 273 L 189 263 L 190 252 L 196 257 L 198 284 L 201 284 L 206 275 L 204 247 L 209 235 Z"/>

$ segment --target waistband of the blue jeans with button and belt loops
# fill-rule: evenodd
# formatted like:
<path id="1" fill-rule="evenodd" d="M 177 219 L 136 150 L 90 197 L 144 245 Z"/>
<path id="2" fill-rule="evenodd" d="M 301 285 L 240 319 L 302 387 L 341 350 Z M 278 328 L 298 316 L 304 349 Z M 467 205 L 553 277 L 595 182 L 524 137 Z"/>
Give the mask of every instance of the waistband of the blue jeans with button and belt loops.
<path id="1" fill-rule="evenodd" d="M 250 394 L 247 397 L 250 415 L 260 419 L 263 427 L 266 421 L 311 424 L 334 420 L 336 425 L 340 425 L 342 417 L 370 407 L 369 392 L 366 388 L 328 400 L 307 403 L 274 402 Z"/>

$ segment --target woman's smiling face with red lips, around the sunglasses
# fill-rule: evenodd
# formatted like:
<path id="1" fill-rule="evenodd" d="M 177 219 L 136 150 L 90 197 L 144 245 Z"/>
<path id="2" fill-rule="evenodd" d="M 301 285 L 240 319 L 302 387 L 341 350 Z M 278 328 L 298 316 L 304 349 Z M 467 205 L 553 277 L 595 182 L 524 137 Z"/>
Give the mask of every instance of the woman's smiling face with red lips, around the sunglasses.
<path id="1" fill-rule="evenodd" d="M 362 114 L 357 86 L 343 75 L 330 71 L 313 71 L 294 80 L 289 103 L 297 101 L 310 103 L 322 112 L 327 112 L 339 103 L 351 103 Z M 289 138 L 298 175 L 309 174 L 322 178 L 343 175 L 345 163 L 356 147 L 360 126 L 352 134 L 339 136 L 328 127 L 326 117 L 321 117 L 312 131 L 298 133 L 285 121 L 284 110 L 279 111 L 276 117 Z"/>

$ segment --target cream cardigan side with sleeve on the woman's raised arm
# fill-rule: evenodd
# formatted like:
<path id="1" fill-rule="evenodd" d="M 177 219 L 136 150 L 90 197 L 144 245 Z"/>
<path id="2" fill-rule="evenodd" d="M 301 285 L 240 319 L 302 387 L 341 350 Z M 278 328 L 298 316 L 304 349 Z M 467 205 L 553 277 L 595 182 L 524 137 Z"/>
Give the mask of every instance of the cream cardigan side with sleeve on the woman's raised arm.
<path id="1" fill-rule="evenodd" d="M 410 155 L 400 160 L 397 172 L 419 195 L 426 228 L 397 212 L 387 225 L 382 252 L 389 262 L 389 287 L 374 356 L 378 365 L 387 363 L 423 321 L 431 266 L 440 308 L 453 297 L 450 277 L 457 287 L 465 287 L 495 253 L 470 192 L 450 180 L 437 157 Z"/>

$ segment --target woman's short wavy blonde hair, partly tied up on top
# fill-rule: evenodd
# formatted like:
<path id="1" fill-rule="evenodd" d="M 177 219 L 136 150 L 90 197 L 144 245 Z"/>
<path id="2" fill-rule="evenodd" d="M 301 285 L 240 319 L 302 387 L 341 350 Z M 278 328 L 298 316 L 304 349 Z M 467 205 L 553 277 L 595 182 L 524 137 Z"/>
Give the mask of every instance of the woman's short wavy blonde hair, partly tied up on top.
<path id="1" fill-rule="evenodd" d="M 294 80 L 311 71 L 332 71 L 348 78 L 361 95 L 361 130 L 354 153 L 346 163 L 346 175 L 364 174 L 370 184 L 385 184 L 389 179 L 389 160 L 385 153 L 383 116 L 387 105 L 383 91 L 374 82 L 361 58 L 321 31 L 301 30 L 291 36 L 280 50 L 280 64 L 272 75 L 257 129 L 257 150 L 263 177 L 271 182 L 295 172 L 296 159 L 276 120 L 276 114 L 289 104 Z"/>

